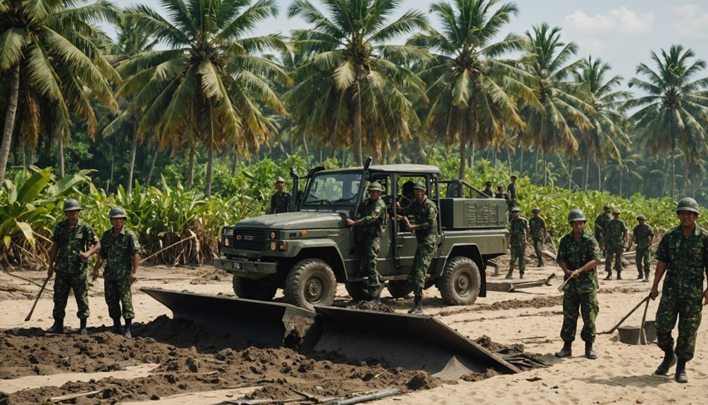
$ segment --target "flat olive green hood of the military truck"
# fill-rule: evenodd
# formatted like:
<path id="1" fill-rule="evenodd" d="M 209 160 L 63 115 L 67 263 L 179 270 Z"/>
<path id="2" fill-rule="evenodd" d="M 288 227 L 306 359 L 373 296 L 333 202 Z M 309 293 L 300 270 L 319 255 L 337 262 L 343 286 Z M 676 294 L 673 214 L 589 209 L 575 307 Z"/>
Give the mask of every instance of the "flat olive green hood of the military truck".
<path id="1" fill-rule="evenodd" d="M 235 228 L 331 229 L 343 228 L 346 215 L 341 212 L 283 212 L 242 219 Z"/>

